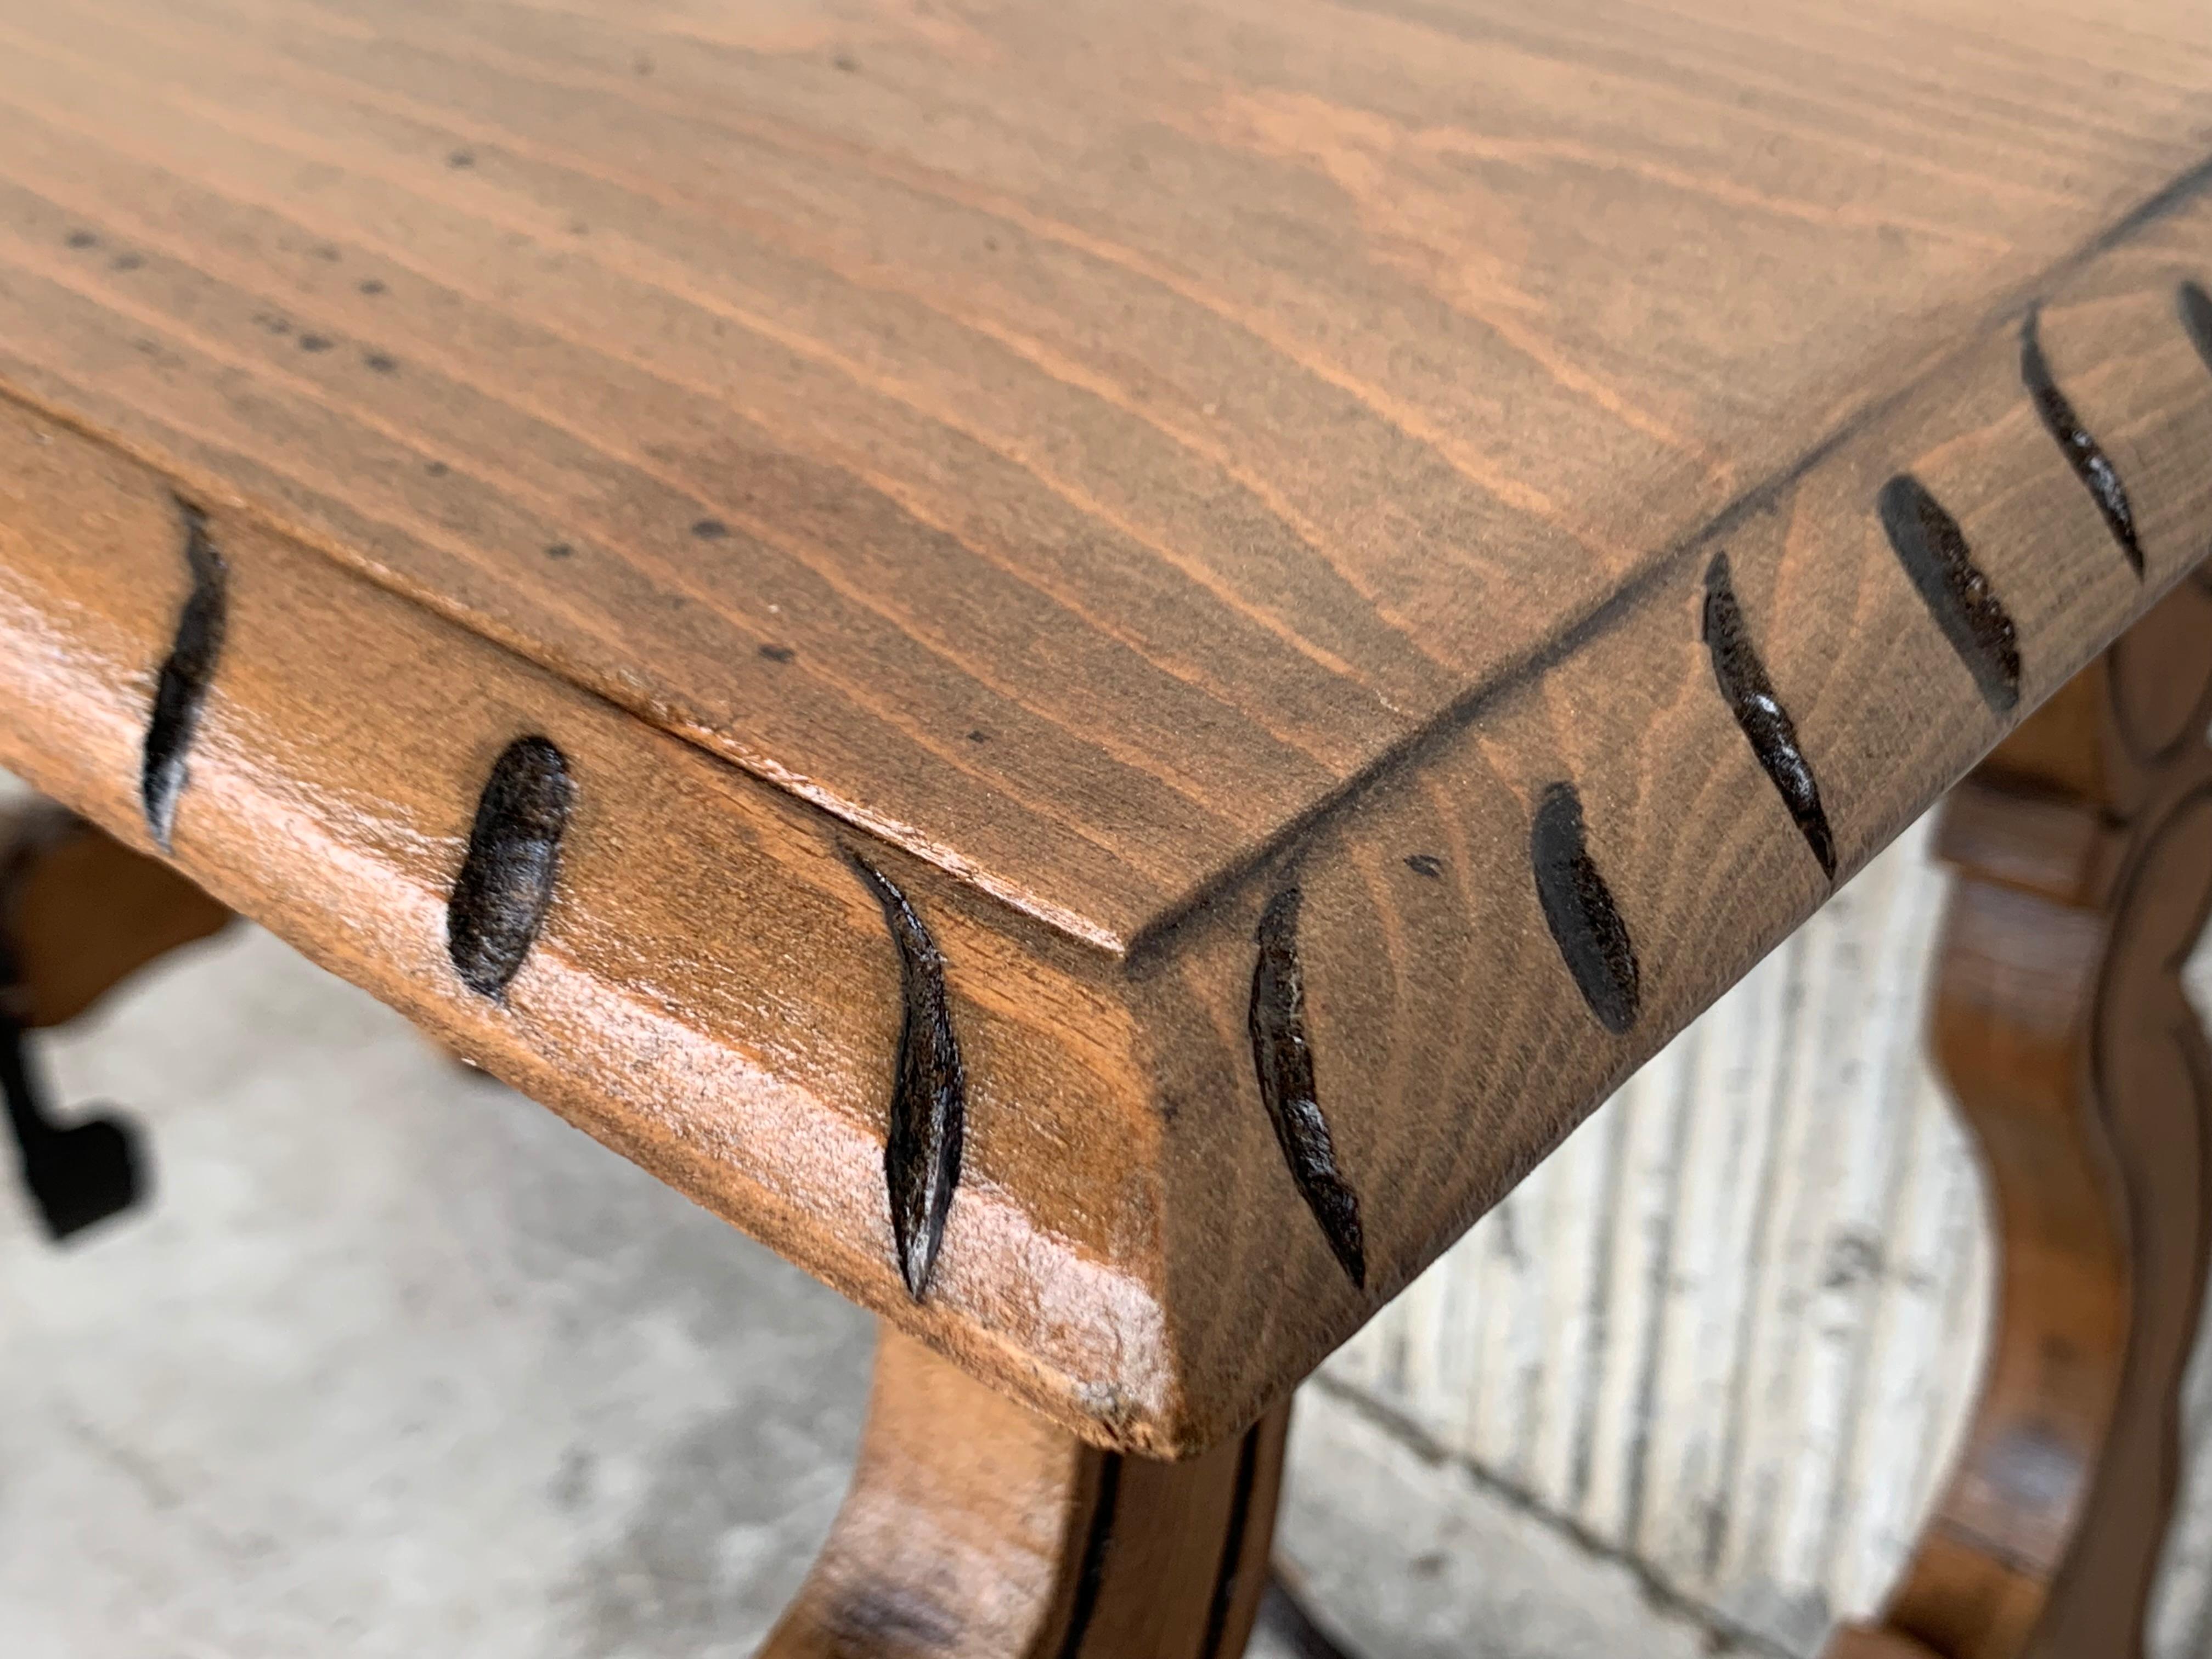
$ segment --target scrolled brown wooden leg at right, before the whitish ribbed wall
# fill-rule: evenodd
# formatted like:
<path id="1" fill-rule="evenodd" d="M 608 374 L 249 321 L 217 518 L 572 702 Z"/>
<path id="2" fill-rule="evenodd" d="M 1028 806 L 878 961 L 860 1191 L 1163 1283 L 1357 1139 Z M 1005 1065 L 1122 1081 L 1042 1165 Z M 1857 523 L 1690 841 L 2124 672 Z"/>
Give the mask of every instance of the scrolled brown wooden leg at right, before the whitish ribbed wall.
<path id="1" fill-rule="evenodd" d="M 1880 1626 L 1832 1659 L 2128 1659 L 2212 1221 L 2212 591 L 2185 582 L 1960 785 L 1933 1044 L 2002 1272 L 1984 1391 Z"/>

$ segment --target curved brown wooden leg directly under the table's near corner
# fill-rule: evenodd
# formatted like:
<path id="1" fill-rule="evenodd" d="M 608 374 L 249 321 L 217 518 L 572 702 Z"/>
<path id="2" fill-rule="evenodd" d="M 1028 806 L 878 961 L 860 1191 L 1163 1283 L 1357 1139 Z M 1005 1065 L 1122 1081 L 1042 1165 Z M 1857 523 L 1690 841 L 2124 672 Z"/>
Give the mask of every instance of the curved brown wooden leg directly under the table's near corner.
<path id="1" fill-rule="evenodd" d="M 852 1491 L 763 1659 L 1234 1659 L 1290 1407 L 1203 1458 L 1082 1444 L 883 1329 Z"/>

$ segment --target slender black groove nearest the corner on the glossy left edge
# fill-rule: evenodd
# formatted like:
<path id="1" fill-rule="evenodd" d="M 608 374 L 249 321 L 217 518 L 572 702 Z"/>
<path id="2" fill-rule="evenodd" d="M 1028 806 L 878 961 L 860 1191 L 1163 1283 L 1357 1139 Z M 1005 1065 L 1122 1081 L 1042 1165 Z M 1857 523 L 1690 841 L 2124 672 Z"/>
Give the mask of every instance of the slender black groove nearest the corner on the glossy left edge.
<path id="1" fill-rule="evenodd" d="M 920 1301 L 945 1243 L 945 1217 L 960 1186 L 967 1137 L 967 1073 L 945 995 L 945 958 L 898 885 L 860 854 L 845 858 L 876 894 L 898 945 L 905 1015 L 898 1026 L 898 1073 L 891 1084 L 891 1128 L 883 1141 L 883 1179 L 891 1192 L 891 1237 L 907 1294 Z"/>

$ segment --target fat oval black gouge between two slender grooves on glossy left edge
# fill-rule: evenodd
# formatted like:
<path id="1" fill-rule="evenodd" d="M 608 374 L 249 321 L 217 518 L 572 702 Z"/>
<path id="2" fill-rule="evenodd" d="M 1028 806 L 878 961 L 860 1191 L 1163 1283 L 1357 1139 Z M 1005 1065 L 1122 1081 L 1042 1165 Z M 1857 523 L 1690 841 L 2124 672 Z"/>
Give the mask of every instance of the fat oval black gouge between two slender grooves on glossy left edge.
<path id="1" fill-rule="evenodd" d="M 504 998 L 522 971 L 553 905 L 573 805 L 568 761 L 551 739 L 518 737 L 491 763 L 445 907 L 445 949 L 471 991 Z"/>

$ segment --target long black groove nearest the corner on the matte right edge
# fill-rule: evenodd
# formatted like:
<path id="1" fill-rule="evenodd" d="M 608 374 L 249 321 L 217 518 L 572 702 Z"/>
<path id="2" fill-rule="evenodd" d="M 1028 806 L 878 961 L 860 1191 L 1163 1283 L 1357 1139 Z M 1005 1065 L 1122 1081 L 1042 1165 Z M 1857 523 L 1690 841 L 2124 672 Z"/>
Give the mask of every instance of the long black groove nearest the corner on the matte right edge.
<path id="1" fill-rule="evenodd" d="M 1314 1091 L 1314 1051 L 1305 1040 L 1305 969 L 1298 962 L 1298 905 L 1285 887 L 1259 918 L 1259 960 L 1252 964 L 1252 1066 L 1259 1097 L 1274 1121 L 1290 1179 L 1336 1261 L 1360 1290 L 1367 1287 L 1367 1243 L 1360 1201 L 1336 1168 L 1336 1144 Z"/>

